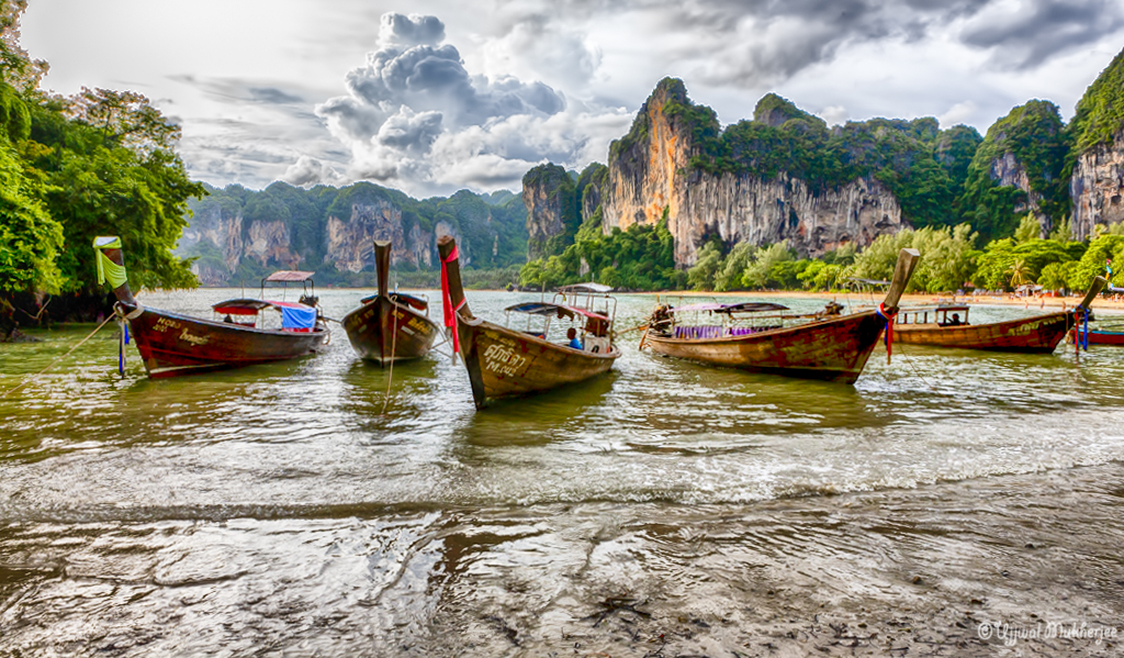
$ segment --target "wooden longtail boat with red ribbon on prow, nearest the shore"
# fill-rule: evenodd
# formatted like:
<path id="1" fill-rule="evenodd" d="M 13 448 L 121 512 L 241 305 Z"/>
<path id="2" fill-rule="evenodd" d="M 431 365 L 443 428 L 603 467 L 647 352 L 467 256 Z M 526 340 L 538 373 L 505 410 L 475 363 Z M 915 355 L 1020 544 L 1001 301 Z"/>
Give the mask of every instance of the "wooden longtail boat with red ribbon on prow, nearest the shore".
<path id="1" fill-rule="evenodd" d="M 453 350 L 464 359 L 478 409 L 484 408 L 489 400 L 584 381 L 607 372 L 620 355 L 611 344 L 613 317 L 608 313 L 602 315 L 564 304 L 546 305 L 553 307 L 550 310 L 560 319 L 581 319 L 592 327 L 581 350 L 552 343 L 545 333 L 517 331 L 473 316 L 461 287 L 456 242 L 452 236 L 442 236 L 437 251 L 442 262 L 445 326 L 453 330 Z"/>

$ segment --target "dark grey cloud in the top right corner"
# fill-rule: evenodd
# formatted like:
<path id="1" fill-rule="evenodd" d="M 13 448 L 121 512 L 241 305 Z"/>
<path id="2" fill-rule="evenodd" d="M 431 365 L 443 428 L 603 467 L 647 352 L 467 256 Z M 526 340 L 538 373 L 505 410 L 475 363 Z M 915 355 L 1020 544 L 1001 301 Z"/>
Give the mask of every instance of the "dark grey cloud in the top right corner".
<path id="1" fill-rule="evenodd" d="M 1116 0 L 1035 0 L 1022 11 L 988 16 L 986 25 L 964 30 L 963 42 L 995 48 L 1000 62 L 1027 69 L 1096 42 L 1122 25 L 1124 8 Z"/>

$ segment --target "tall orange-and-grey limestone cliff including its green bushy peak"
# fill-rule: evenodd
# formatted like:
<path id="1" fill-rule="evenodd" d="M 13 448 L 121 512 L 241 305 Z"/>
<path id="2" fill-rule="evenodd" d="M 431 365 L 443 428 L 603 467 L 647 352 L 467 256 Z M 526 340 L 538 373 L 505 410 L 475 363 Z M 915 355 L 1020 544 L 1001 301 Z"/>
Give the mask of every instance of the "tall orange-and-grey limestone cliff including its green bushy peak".
<path id="1" fill-rule="evenodd" d="M 763 99 L 758 116 L 758 125 L 736 127 L 749 137 L 733 146 L 756 147 L 754 130 L 782 133 L 789 127 L 797 132 L 810 126 L 827 139 L 818 119 L 779 97 Z M 716 148 L 718 133 L 713 112 L 691 103 L 682 82 L 661 82 L 632 130 L 610 150 L 604 183 L 596 190 L 604 231 L 654 224 L 667 216 L 676 263 L 687 267 L 703 242 L 715 235 L 727 244 L 787 240 L 798 252 L 816 256 L 847 243 L 863 246 L 910 225 L 897 196 L 870 172 L 825 181 L 782 166 L 760 166 L 755 154 L 731 156 L 728 145 Z M 708 166 L 716 157 L 725 159 L 722 165 Z"/>

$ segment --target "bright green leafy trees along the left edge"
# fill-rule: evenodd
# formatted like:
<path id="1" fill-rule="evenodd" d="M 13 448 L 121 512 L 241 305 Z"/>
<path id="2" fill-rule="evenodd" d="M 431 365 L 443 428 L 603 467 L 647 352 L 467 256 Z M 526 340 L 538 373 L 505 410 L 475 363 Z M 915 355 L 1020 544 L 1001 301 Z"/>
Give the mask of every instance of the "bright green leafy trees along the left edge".
<path id="1" fill-rule="evenodd" d="M 0 294 L 99 294 L 97 235 L 121 236 L 137 288 L 197 285 L 171 253 L 187 199 L 205 193 L 175 155 L 179 127 L 138 93 L 39 91 L 46 64 L 18 45 L 24 7 L 0 9 Z"/>

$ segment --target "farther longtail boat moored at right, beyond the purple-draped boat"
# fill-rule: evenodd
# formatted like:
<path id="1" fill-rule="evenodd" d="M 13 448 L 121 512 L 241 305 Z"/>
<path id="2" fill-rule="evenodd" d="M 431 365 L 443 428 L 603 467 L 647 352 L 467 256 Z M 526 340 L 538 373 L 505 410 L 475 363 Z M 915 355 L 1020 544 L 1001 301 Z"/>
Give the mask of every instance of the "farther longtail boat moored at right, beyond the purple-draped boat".
<path id="1" fill-rule="evenodd" d="M 1097 277 L 1077 308 L 1088 308 L 1104 283 Z M 986 324 L 969 324 L 968 313 L 969 307 L 963 304 L 903 308 L 894 325 L 894 340 L 910 345 L 1049 354 L 1073 326 L 1076 312 L 1059 310 Z"/>

